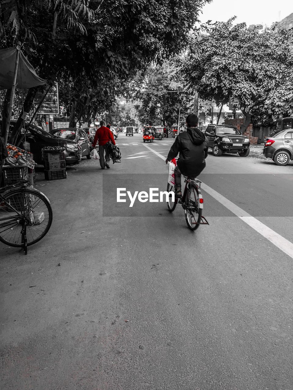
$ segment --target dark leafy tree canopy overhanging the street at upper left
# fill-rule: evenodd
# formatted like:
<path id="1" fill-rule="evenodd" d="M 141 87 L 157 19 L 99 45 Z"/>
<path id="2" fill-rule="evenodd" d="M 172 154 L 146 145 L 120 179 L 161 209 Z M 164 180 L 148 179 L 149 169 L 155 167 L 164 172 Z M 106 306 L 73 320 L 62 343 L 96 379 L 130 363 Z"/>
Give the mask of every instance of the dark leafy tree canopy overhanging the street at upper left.
<path id="1" fill-rule="evenodd" d="M 40 76 L 49 80 L 71 78 L 75 84 L 82 75 L 88 82 L 94 80 L 95 96 L 110 84 L 123 85 L 153 60 L 182 50 L 187 32 L 205 2 L 11 0 L 1 8 L 0 29 L 5 38 L 2 47 L 20 40 L 24 54 Z M 75 91 L 79 84 L 80 80 L 73 85 Z M 27 110 L 34 93 L 29 91 Z M 89 96 L 84 97 L 83 111 Z M 72 108 L 72 101 L 67 103 Z M 75 113 L 78 106 L 79 102 L 73 102 L 75 122 L 80 113 Z M 14 127 L 14 133 L 19 130 L 19 125 Z"/>

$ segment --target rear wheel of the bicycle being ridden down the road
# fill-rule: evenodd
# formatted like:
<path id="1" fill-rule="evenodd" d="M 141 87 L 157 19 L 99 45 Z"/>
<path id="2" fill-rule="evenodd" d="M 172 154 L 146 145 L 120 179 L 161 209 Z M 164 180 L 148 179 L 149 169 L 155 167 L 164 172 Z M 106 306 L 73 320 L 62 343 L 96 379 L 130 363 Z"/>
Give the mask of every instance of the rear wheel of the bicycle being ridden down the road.
<path id="1" fill-rule="evenodd" d="M 186 202 L 187 206 L 184 208 L 185 220 L 190 230 L 196 230 L 202 218 L 202 208 L 200 208 L 199 202 L 200 194 L 198 186 L 191 183 L 188 191 L 188 202 Z"/>

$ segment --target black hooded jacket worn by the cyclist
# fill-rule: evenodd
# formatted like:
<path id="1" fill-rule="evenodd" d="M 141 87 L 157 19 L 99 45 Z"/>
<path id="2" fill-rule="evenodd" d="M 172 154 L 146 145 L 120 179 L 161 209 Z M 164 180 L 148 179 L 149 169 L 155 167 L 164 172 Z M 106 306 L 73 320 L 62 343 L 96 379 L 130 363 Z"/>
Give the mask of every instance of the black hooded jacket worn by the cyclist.
<path id="1" fill-rule="evenodd" d="M 167 158 L 172 160 L 179 153 L 180 172 L 185 176 L 197 176 L 205 167 L 207 149 L 204 133 L 197 128 L 187 128 L 177 136 Z"/>

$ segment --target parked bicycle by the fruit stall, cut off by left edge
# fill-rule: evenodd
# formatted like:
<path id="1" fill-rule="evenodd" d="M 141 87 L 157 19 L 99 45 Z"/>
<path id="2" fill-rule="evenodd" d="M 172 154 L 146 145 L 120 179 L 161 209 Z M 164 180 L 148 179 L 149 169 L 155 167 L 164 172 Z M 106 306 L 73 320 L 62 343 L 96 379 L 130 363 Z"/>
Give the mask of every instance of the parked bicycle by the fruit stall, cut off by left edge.
<path id="1" fill-rule="evenodd" d="M 27 247 L 40 241 L 49 231 L 53 212 L 48 198 L 28 181 L 0 188 L 0 241 Z"/>

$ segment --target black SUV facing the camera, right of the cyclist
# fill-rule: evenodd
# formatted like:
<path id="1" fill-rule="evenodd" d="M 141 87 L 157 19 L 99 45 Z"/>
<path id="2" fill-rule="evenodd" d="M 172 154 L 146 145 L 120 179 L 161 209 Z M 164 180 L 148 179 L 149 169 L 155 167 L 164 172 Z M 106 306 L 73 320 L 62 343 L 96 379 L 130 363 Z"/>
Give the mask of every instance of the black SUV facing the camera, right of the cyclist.
<path id="1" fill-rule="evenodd" d="M 204 131 L 204 135 L 214 156 L 238 153 L 239 156 L 246 157 L 250 152 L 249 138 L 242 135 L 234 126 L 210 124 Z"/>

